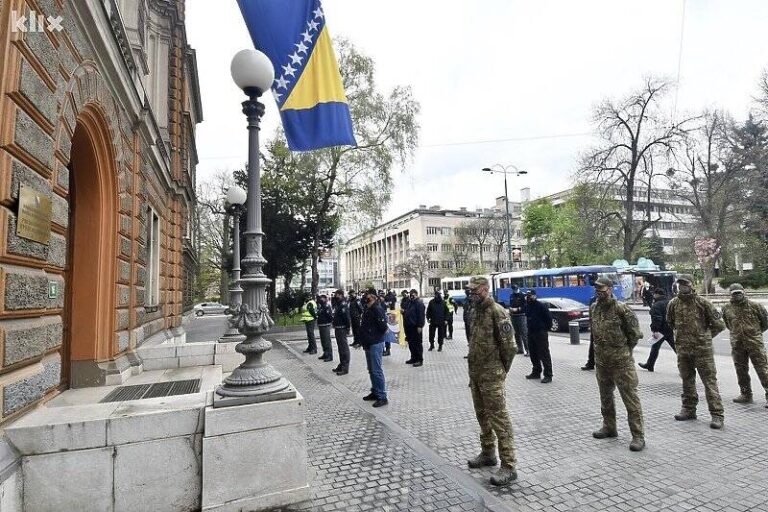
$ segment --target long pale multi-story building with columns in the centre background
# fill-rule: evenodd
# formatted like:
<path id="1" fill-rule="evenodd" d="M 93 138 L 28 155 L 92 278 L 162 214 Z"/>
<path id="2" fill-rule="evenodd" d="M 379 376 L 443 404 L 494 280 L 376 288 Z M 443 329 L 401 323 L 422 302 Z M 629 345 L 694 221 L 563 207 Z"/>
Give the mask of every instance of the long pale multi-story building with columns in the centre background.
<path id="1" fill-rule="evenodd" d="M 523 197 L 527 197 L 527 189 L 523 191 Z M 498 198 L 493 208 L 475 211 L 420 205 L 357 235 L 345 244 L 342 249 L 342 284 L 355 289 L 366 285 L 382 289 L 419 288 L 415 278 L 406 278 L 396 272 L 397 266 L 408 258 L 411 248 L 419 245 L 425 246 L 431 255 L 426 279 L 422 283 L 424 289 L 438 286 L 441 277 L 456 275 L 468 263 L 476 263 L 474 266 L 477 268 L 482 262 L 487 271 L 526 268 L 528 257 L 520 219 L 522 203 L 509 203 L 513 262 L 508 261 L 507 256 L 505 207 L 504 197 Z M 505 233 L 496 237 L 489 235 L 481 252 L 480 243 L 472 236 L 462 234 L 461 230 L 466 230 L 473 221 L 482 217 L 500 219 L 500 229 Z M 494 243 L 494 239 L 504 240 L 501 247 Z"/>

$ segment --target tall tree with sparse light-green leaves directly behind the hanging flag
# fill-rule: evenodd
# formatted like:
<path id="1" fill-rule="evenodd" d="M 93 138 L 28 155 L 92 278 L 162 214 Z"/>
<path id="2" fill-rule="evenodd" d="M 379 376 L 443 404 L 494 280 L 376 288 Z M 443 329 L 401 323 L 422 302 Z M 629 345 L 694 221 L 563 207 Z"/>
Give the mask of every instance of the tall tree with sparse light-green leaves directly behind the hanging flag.
<path id="1" fill-rule="evenodd" d="M 317 292 L 317 263 L 327 246 L 327 233 L 345 224 L 373 227 L 389 203 L 392 171 L 404 166 L 418 144 L 416 117 L 420 106 L 410 87 L 389 94 L 376 88 L 375 63 L 346 39 L 336 40 L 344 90 L 357 146 L 339 146 L 292 154 L 304 171 L 293 186 L 303 187 L 313 218 L 310 243 L 312 293 Z"/>

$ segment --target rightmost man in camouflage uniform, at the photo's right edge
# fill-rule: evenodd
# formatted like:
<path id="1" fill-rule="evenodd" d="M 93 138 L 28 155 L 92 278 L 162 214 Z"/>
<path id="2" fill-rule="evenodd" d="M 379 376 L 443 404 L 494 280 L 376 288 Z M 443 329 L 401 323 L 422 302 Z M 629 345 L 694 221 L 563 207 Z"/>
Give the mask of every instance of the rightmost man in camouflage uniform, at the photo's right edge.
<path id="1" fill-rule="evenodd" d="M 728 289 L 731 303 L 723 307 L 723 320 L 731 331 L 731 355 L 736 366 L 741 395 L 734 398 L 737 404 L 752 402 L 752 386 L 749 382 L 749 361 L 765 390 L 765 406 L 768 407 L 768 360 L 765 356 L 763 333 L 768 330 L 768 312 L 762 304 L 744 295 L 744 287 L 734 283 Z"/>

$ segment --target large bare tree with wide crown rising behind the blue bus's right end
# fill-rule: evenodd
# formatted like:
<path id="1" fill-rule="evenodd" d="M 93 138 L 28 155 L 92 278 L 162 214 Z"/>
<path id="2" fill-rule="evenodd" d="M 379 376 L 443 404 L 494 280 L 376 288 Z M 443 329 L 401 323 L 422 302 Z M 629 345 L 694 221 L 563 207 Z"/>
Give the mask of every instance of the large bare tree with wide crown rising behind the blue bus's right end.
<path id="1" fill-rule="evenodd" d="M 582 157 L 581 181 L 594 183 L 621 198 L 623 209 L 613 212 L 621 224 L 624 259 L 629 260 L 648 228 L 650 198 L 659 176 L 655 163 L 676 150 L 690 119 L 670 122 L 660 101 L 669 84 L 648 78 L 644 86 L 621 101 L 605 100 L 594 112 L 602 144 Z M 636 219 L 638 203 L 644 203 L 642 220 Z"/>

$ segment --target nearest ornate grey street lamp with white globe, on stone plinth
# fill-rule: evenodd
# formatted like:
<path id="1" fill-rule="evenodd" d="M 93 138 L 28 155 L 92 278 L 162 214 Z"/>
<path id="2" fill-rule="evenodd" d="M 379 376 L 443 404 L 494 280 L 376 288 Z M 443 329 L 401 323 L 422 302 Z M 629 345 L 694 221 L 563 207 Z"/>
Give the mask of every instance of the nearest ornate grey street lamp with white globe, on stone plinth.
<path id="1" fill-rule="evenodd" d="M 263 335 L 275 322 L 269 316 L 266 287 L 270 280 L 264 275 L 266 260 L 261 254 L 264 233 L 261 231 L 261 169 L 259 164 L 259 122 L 264 104 L 259 96 L 272 87 L 275 70 L 266 55 L 258 50 L 241 50 L 232 59 L 232 79 L 248 96 L 243 102 L 243 114 L 248 119 L 248 197 L 246 202 L 245 257 L 242 261 L 243 303 L 234 317 L 237 328 L 246 339 L 235 350 L 245 361 L 224 379 L 216 393 L 226 398 L 241 398 L 229 403 L 259 402 L 293 398 L 296 391 L 272 366 L 262 361 L 272 343 Z M 221 402 L 224 402 L 222 400 Z M 220 403 L 219 405 L 226 405 Z M 214 401 L 214 407 L 216 402 Z"/>

